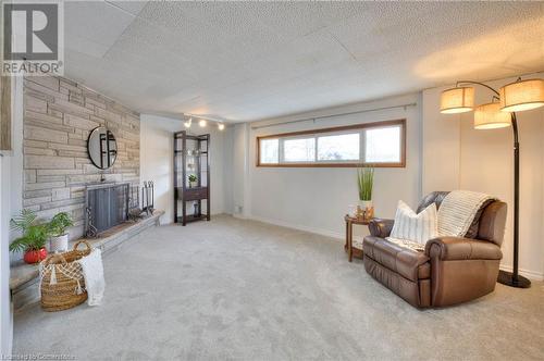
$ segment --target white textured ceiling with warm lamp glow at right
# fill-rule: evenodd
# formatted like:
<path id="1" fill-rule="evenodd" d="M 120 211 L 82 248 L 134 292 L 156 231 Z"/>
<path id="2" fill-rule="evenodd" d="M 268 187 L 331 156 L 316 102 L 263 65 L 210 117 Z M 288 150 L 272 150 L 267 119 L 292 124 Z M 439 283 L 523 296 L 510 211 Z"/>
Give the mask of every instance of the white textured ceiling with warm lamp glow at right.
<path id="1" fill-rule="evenodd" d="M 544 2 L 66 2 L 65 74 L 252 121 L 544 71 Z"/>

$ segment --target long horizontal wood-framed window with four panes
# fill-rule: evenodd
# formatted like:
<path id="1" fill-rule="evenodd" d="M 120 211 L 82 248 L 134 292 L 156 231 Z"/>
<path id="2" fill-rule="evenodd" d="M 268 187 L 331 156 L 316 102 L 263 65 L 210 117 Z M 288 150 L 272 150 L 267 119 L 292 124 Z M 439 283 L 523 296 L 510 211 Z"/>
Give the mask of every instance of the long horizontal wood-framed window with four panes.
<path id="1" fill-rule="evenodd" d="M 406 121 L 257 137 L 257 166 L 405 166 Z"/>

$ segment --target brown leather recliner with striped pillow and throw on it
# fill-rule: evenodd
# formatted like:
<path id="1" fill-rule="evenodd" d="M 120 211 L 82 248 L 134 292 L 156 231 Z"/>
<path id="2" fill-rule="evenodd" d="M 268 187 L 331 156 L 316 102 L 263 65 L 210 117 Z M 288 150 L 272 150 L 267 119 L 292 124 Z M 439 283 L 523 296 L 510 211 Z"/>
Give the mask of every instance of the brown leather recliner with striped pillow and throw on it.
<path id="1" fill-rule="evenodd" d="M 438 208 L 446 191 L 428 195 L 418 213 L 432 202 Z M 460 237 L 438 237 L 425 245 L 424 252 L 403 248 L 385 239 L 393 220 L 374 219 L 370 236 L 363 240 L 367 272 L 415 307 L 442 307 L 475 299 L 492 292 L 503 258 L 507 206 L 489 201 Z"/>

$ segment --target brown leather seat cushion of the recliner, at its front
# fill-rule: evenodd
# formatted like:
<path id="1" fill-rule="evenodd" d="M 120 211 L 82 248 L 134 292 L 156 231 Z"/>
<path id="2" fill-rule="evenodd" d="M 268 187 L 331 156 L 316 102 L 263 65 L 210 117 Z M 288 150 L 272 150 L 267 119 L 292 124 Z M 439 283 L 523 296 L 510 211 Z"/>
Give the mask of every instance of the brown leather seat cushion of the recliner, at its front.
<path id="1" fill-rule="evenodd" d="M 424 252 L 417 252 L 374 236 L 364 237 L 362 247 L 364 257 L 371 258 L 405 278 L 418 281 L 431 276 L 431 264 Z"/>

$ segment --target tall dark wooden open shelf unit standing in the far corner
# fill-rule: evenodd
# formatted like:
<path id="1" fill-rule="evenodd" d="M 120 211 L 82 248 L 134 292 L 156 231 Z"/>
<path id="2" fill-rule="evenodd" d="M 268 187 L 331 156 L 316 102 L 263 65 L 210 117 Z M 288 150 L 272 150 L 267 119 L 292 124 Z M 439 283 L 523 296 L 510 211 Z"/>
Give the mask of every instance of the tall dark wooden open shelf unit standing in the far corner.
<path id="1" fill-rule="evenodd" d="M 186 130 L 174 133 L 175 223 L 186 225 L 187 222 L 210 221 L 209 149 L 209 134 L 195 136 Z"/>

